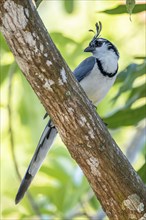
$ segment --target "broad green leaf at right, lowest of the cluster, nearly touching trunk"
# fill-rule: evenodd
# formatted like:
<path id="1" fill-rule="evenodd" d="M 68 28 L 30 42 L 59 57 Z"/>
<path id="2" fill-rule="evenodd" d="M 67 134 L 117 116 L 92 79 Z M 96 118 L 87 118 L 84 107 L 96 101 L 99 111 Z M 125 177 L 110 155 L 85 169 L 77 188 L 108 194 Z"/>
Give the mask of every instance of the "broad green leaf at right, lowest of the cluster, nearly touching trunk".
<path id="1" fill-rule="evenodd" d="M 121 109 L 113 113 L 109 117 L 104 118 L 104 122 L 108 124 L 108 128 L 118 128 L 122 126 L 136 125 L 139 121 L 145 118 L 146 105 L 136 109 Z"/>

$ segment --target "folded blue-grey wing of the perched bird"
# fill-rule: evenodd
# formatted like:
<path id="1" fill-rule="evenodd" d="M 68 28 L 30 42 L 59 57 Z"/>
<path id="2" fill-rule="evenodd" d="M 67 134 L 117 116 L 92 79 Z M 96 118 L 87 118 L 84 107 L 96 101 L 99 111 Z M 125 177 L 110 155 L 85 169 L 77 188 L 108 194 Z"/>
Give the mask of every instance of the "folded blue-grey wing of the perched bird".
<path id="1" fill-rule="evenodd" d="M 95 57 L 88 57 L 87 59 L 83 60 L 74 70 L 73 74 L 76 79 L 80 82 L 84 79 L 85 76 L 88 76 L 95 65 L 96 59 Z"/>

